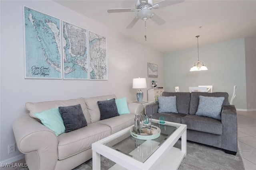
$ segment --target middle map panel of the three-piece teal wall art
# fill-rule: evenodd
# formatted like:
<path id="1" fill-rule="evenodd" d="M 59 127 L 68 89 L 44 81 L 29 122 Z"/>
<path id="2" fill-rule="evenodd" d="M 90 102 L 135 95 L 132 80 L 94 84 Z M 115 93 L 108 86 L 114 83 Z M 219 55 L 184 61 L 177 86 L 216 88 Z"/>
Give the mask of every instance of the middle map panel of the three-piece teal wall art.
<path id="1" fill-rule="evenodd" d="M 88 80 L 87 30 L 62 21 L 64 79 Z"/>

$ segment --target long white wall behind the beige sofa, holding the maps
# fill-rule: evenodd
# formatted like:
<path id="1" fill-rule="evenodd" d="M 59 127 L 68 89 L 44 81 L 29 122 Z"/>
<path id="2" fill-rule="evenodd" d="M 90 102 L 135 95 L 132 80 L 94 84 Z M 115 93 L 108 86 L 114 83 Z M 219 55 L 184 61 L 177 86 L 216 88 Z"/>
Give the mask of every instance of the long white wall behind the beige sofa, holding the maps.
<path id="1" fill-rule="evenodd" d="M 20 154 L 8 154 L 15 143 L 12 123 L 25 114 L 26 102 L 67 100 L 79 97 L 116 94 L 117 98 L 136 100 L 132 78 L 156 80 L 164 86 L 164 57 L 152 49 L 120 35 L 108 27 L 69 10 L 53 1 L 0 1 L 1 3 L 1 154 L 6 161 Z M 44 80 L 24 78 L 23 5 L 107 37 L 108 80 Z M 136 30 L 134 30 L 136 31 Z M 158 64 L 158 78 L 147 77 L 147 63 Z M 144 100 L 147 100 L 147 91 Z M 25 122 L 24 122 L 25 123 Z M 22 127 L 20 127 L 22 128 Z M 17 150 L 17 148 L 16 148 Z"/>

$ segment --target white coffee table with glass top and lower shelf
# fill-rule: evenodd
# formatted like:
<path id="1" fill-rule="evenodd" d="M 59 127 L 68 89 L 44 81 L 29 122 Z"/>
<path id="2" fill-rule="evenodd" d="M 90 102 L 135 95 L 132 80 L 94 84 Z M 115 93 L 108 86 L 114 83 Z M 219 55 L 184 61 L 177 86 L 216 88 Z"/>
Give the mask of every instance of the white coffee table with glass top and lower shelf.
<path id="1" fill-rule="evenodd" d="M 167 122 L 152 125 L 161 129 L 161 135 L 153 140 L 140 140 L 130 136 L 130 128 L 114 133 L 92 144 L 92 169 L 100 170 L 100 155 L 116 162 L 110 169 L 156 170 L 178 169 L 187 150 L 187 126 Z M 181 149 L 173 147 L 181 137 Z"/>

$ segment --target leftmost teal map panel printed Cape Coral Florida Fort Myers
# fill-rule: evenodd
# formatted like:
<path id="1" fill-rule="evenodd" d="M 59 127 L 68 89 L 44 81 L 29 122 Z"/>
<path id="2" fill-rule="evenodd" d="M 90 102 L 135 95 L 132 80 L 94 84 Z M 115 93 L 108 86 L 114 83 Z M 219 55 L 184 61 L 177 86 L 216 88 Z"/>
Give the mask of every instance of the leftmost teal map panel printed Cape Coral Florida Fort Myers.
<path id="1" fill-rule="evenodd" d="M 24 7 L 25 78 L 62 78 L 60 20 Z"/>

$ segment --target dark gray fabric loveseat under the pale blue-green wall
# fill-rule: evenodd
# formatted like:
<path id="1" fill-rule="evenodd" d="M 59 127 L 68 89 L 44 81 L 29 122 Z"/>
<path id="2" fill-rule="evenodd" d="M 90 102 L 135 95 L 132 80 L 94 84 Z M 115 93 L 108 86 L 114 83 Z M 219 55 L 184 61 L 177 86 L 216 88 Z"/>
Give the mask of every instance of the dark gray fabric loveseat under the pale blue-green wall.
<path id="1" fill-rule="evenodd" d="M 158 103 L 146 106 L 146 114 L 153 119 L 164 116 L 166 121 L 187 125 L 187 140 L 224 149 L 226 153 L 237 152 L 237 113 L 229 105 L 226 92 L 163 92 L 162 96 L 176 96 L 178 113 L 158 113 Z M 195 115 L 199 96 L 224 97 L 221 120 Z"/>

